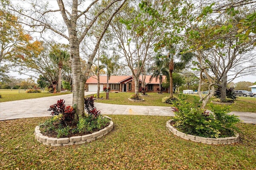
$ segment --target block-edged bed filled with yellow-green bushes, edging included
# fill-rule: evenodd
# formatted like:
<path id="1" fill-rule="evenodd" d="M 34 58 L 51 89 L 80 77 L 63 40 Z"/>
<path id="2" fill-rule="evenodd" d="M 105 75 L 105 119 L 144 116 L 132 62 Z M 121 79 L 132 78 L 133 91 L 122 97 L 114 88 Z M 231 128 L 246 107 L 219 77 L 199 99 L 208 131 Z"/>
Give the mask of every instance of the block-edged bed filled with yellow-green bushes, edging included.
<path id="1" fill-rule="evenodd" d="M 191 104 L 180 96 L 180 100 L 171 107 L 175 116 L 167 123 L 168 129 L 177 136 L 197 142 L 228 144 L 239 141 L 236 133 L 239 129 L 235 124 L 240 119 L 227 114 L 230 112 L 229 106 L 210 104 L 211 112 L 198 106 L 198 101 Z"/>

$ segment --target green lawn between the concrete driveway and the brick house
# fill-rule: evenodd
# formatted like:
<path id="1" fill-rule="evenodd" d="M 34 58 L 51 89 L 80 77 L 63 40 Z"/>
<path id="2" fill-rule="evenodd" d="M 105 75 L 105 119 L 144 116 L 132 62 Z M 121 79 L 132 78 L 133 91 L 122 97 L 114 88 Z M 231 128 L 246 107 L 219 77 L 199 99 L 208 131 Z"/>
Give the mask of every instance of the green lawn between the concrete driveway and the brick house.
<path id="1" fill-rule="evenodd" d="M 104 100 L 96 100 L 98 103 L 107 103 L 107 104 L 122 104 L 122 105 L 137 105 L 137 106 L 170 106 L 170 104 L 162 103 L 162 98 L 169 96 L 170 94 L 157 94 L 157 93 L 148 93 L 148 96 L 143 97 L 144 102 L 131 102 L 128 98 L 134 93 L 109 93 L 109 100 L 106 100 L 106 93 L 100 93 L 100 95 L 105 98 Z M 177 96 L 177 94 L 174 94 Z M 91 95 L 89 95 L 91 96 Z M 199 100 L 198 95 L 186 95 L 188 97 L 188 102 L 194 101 L 194 96 Z M 214 98 L 211 98 L 214 100 Z M 210 101 L 211 101 L 210 100 Z M 210 101 L 208 104 L 210 104 Z M 256 113 L 256 98 L 254 97 L 239 97 L 234 104 L 231 105 L 231 111 L 245 111 Z M 209 108 L 209 107 L 206 107 Z"/>

